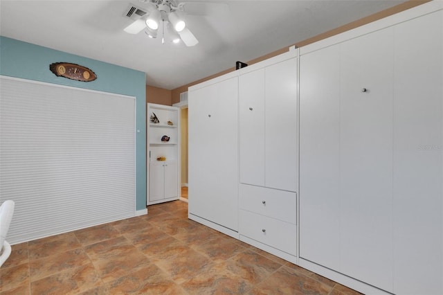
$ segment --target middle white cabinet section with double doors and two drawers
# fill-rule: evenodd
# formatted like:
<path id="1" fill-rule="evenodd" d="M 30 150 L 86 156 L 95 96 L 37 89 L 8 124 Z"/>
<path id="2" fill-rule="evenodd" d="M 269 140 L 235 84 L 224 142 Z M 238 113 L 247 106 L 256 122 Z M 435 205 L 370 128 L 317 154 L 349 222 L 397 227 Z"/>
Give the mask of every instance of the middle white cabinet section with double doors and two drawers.
<path id="1" fill-rule="evenodd" d="M 240 240 L 296 256 L 297 60 L 292 48 L 239 71 Z"/>

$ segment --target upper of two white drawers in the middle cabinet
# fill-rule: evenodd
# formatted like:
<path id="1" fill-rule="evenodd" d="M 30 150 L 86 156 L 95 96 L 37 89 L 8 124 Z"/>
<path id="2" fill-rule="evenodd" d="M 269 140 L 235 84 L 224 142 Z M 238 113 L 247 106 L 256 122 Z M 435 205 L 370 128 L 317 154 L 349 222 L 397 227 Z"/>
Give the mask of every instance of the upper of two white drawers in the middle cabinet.
<path id="1" fill-rule="evenodd" d="M 240 184 L 239 207 L 284 222 L 297 223 L 297 193 Z"/>

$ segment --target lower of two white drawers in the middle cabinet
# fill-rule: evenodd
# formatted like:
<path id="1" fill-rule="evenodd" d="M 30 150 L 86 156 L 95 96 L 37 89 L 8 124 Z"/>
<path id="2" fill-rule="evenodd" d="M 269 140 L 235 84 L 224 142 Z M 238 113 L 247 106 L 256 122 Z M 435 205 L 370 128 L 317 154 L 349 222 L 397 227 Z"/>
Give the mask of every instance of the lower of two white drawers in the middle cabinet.
<path id="1" fill-rule="evenodd" d="M 240 210 L 239 234 L 296 255 L 297 227 L 295 224 Z"/>

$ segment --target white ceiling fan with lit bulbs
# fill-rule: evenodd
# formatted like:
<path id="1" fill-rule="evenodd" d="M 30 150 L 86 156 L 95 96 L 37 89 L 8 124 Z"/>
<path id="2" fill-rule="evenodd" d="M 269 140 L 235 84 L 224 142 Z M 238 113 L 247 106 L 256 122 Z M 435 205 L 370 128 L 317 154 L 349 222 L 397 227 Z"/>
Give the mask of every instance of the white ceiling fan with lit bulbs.
<path id="1" fill-rule="evenodd" d="M 141 1 L 147 3 L 147 11 L 144 14 L 143 11 L 137 13 L 141 17 L 124 29 L 126 33 L 138 34 L 146 29 L 145 33 L 149 37 L 156 38 L 161 28 L 161 41 L 163 44 L 165 42 L 165 33 L 168 37 L 171 37 L 174 43 L 179 42 L 180 39 L 186 46 L 195 46 L 199 43 L 183 19 L 185 3 L 177 3 L 174 0 Z"/>

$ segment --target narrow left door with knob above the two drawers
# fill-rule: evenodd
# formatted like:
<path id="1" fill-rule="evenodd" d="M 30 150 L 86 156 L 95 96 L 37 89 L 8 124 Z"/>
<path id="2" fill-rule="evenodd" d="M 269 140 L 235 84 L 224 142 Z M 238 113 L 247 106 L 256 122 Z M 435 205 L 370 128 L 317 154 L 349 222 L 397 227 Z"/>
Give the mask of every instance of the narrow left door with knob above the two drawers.
<path id="1" fill-rule="evenodd" d="M 240 76 L 240 182 L 264 186 L 264 69 Z"/>

